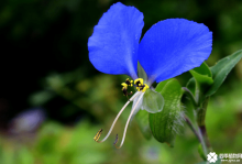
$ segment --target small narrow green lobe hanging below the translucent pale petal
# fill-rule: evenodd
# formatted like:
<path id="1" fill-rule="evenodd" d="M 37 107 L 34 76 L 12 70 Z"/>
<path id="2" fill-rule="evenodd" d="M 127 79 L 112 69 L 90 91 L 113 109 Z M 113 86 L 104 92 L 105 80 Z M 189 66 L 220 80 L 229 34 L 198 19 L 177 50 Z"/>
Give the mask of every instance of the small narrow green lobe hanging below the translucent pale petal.
<path id="1" fill-rule="evenodd" d="M 152 138 L 152 133 L 148 125 L 148 112 L 146 110 L 140 110 L 135 116 L 135 120 L 141 130 L 141 133 L 145 139 L 150 140 Z"/>

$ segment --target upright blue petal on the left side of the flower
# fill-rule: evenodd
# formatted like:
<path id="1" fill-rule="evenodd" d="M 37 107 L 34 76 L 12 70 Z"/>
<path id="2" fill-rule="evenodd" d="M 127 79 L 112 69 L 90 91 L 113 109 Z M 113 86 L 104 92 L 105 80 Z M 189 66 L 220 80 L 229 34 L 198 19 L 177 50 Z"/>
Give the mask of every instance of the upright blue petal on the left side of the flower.
<path id="1" fill-rule="evenodd" d="M 136 8 L 120 2 L 113 4 L 88 40 L 92 65 L 106 74 L 138 78 L 138 48 L 143 25 L 143 13 Z"/>

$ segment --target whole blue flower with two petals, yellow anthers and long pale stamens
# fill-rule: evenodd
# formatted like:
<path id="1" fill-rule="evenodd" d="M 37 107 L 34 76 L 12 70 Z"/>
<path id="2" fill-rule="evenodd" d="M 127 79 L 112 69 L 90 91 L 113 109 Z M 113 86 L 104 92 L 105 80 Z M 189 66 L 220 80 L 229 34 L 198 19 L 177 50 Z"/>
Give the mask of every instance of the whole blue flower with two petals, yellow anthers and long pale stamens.
<path id="1" fill-rule="evenodd" d="M 131 117 L 142 107 L 145 90 L 154 81 L 160 83 L 200 66 L 211 53 L 212 32 L 202 23 L 167 19 L 154 24 L 140 41 L 143 25 L 142 12 L 118 2 L 101 17 L 88 40 L 89 59 L 92 65 L 106 74 L 129 75 L 139 90 L 121 109 L 101 142 L 109 136 L 124 108 L 130 101 L 134 101 L 122 145 Z M 145 70 L 147 79 L 139 78 L 138 62 Z M 129 83 L 131 81 L 127 80 L 122 84 L 127 95 L 127 89 L 131 86 Z M 96 141 L 100 134 L 101 131 L 96 135 Z"/>

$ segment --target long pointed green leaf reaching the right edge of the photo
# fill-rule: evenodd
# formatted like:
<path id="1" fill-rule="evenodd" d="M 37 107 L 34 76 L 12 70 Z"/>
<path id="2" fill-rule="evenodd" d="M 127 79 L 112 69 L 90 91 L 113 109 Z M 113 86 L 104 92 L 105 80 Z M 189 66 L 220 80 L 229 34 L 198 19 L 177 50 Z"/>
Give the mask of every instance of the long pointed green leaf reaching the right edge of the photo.
<path id="1" fill-rule="evenodd" d="M 213 84 L 206 92 L 206 96 L 213 95 L 218 88 L 222 85 L 228 74 L 237 65 L 242 57 L 242 50 L 233 53 L 232 55 L 220 59 L 210 69 L 212 72 Z"/>

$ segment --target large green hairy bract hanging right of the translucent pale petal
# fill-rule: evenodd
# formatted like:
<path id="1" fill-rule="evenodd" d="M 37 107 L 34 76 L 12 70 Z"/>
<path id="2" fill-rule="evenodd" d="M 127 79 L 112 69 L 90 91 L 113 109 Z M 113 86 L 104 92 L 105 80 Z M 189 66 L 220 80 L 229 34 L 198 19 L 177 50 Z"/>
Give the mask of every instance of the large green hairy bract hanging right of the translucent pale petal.
<path id="1" fill-rule="evenodd" d="M 157 141 L 174 146 L 176 134 L 183 125 L 180 99 L 184 91 L 174 78 L 160 83 L 155 90 L 163 95 L 165 106 L 163 111 L 148 114 L 151 131 Z"/>

